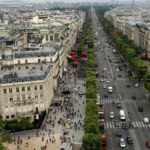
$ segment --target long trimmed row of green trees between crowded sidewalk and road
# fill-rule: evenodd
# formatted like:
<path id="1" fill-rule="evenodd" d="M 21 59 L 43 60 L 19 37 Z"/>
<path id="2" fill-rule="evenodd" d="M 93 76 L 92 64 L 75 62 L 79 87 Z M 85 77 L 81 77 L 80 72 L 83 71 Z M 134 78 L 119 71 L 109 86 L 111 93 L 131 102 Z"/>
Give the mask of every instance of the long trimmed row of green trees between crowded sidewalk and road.
<path id="1" fill-rule="evenodd" d="M 91 20 L 91 19 L 90 19 Z M 88 47 L 93 47 L 93 31 L 92 22 L 89 22 L 89 39 Z M 90 44 L 89 44 L 89 41 Z M 98 124 L 98 107 L 96 105 L 96 74 L 94 63 L 94 51 L 88 50 L 88 60 L 86 64 L 86 112 L 84 118 L 85 134 L 82 138 L 83 150 L 100 150 L 101 135 Z"/>

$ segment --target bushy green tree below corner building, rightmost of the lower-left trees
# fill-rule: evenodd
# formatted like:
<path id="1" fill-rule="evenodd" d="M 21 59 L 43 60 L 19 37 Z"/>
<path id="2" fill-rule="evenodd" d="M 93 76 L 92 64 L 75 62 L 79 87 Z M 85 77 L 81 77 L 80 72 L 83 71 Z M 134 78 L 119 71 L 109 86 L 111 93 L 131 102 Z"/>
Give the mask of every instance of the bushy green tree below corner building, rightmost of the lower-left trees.
<path id="1" fill-rule="evenodd" d="M 26 117 L 20 117 L 19 128 L 21 130 L 26 130 L 32 128 L 33 124 Z"/>

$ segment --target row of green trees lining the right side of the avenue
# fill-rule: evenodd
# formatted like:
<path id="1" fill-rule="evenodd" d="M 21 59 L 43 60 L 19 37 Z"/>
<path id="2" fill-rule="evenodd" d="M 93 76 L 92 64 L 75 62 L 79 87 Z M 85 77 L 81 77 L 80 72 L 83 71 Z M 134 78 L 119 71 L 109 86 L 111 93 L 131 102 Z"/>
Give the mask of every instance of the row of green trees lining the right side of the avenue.
<path id="1" fill-rule="evenodd" d="M 138 57 L 140 54 L 139 48 L 132 40 L 128 39 L 127 35 L 115 32 L 113 25 L 104 17 L 106 10 L 108 8 L 97 8 L 96 12 L 100 22 L 135 72 L 136 77 L 141 81 L 144 80 L 145 87 L 150 91 L 150 72 L 148 71 L 148 65 Z"/>

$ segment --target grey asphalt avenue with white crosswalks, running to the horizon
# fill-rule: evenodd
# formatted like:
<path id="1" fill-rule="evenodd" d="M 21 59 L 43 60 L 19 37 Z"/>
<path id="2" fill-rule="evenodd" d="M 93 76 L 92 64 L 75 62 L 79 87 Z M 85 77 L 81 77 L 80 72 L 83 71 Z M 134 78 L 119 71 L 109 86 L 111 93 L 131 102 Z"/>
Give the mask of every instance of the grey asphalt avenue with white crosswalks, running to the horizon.
<path id="1" fill-rule="evenodd" d="M 97 37 L 97 40 L 94 40 L 95 60 L 98 63 L 99 73 L 97 88 L 101 97 L 100 102 L 104 104 L 105 109 L 104 126 L 107 137 L 107 149 L 122 149 L 119 144 L 120 138 L 116 136 L 116 130 L 119 130 L 125 139 L 126 146 L 124 150 L 147 150 L 146 141 L 150 141 L 150 123 L 145 124 L 143 122 L 144 117 L 150 119 L 150 102 L 144 96 L 147 94 L 147 91 L 133 76 L 128 75 L 127 71 L 129 68 L 125 67 L 126 63 L 122 56 L 114 54 L 114 44 L 104 32 L 93 8 L 92 19 L 94 37 Z M 138 87 L 135 86 L 135 83 L 138 83 Z M 112 86 L 113 92 L 108 93 L 107 87 L 104 89 L 103 85 L 107 87 Z M 107 98 L 104 97 L 105 93 L 108 93 Z M 136 100 L 133 100 L 132 96 L 136 96 Z M 116 107 L 116 103 L 121 104 L 122 108 L 120 109 L 124 110 L 126 116 L 125 122 L 131 124 L 133 128 L 122 129 L 121 124 L 123 121 L 120 120 L 120 109 Z M 144 111 L 139 112 L 138 106 L 142 106 Z M 109 118 L 111 111 L 115 114 L 114 119 Z M 118 128 L 114 126 L 115 120 L 119 121 Z M 127 144 L 127 136 L 132 137 L 133 144 Z"/>

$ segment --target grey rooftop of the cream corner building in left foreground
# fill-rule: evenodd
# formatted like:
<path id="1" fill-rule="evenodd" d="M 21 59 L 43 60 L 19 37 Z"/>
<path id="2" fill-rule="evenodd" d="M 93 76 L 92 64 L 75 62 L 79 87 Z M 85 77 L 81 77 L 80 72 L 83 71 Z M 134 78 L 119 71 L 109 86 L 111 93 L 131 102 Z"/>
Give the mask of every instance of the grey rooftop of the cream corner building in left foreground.
<path id="1" fill-rule="evenodd" d="M 50 70 L 50 64 L 30 65 L 24 70 L 0 70 L 0 84 L 44 80 Z"/>

